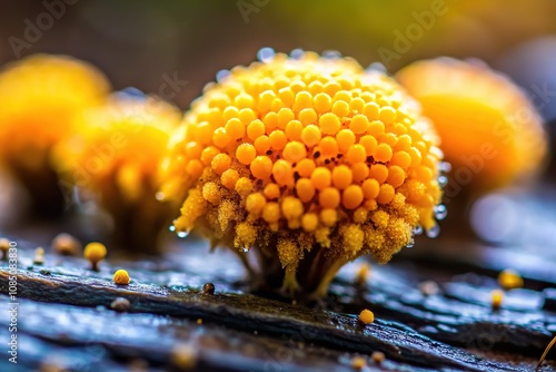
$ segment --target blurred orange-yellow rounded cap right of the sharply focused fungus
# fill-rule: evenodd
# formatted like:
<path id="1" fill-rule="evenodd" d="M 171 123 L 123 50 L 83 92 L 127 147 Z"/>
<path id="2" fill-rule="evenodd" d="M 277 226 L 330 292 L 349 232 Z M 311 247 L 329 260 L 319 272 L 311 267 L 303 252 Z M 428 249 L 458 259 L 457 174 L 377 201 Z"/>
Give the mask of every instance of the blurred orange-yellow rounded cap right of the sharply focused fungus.
<path id="1" fill-rule="evenodd" d="M 509 78 L 449 58 L 417 61 L 396 78 L 433 120 L 459 187 L 485 192 L 538 174 L 547 155 L 542 119 Z"/>

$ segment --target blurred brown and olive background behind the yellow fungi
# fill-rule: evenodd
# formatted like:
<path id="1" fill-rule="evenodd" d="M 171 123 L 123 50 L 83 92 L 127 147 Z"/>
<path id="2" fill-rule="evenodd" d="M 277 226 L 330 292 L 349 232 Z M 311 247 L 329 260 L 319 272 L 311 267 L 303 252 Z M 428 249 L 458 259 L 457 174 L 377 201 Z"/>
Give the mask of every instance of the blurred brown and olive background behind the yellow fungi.
<path id="1" fill-rule="evenodd" d="M 1 65 L 32 53 L 70 55 L 106 72 L 116 90 L 133 86 L 181 109 L 220 69 L 250 63 L 262 47 L 337 50 L 363 66 L 381 62 L 389 74 L 418 59 L 479 58 L 525 88 L 553 146 L 556 137 L 554 0 L 8 0 L 2 8 Z M 554 202 L 549 163 L 535 199 Z M 475 209 L 495 222 L 476 223 L 484 238 L 500 241 L 492 232 L 500 216 L 515 235 L 520 218 L 539 215 L 537 203 L 523 213 L 528 204 L 513 193 L 500 196 L 509 202 L 487 199 Z M 543 211 L 545 227 L 556 227 L 554 213 Z"/>

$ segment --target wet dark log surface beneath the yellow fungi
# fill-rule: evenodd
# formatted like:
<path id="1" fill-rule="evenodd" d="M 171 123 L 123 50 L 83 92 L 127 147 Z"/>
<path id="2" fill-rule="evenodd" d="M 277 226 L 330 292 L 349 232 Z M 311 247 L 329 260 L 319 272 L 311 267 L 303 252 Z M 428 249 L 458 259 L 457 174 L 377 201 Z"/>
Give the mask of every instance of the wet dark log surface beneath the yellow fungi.
<path id="1" fill-rule="evenodd" d="M 80 257 L 37 243 L 18 243 L 18 364 L 4 356 L 1 371 L 33 371 L 54 364 L 71 371 L 179 370 L 173 350 L 191 347 L 198 371 L 350 371 L 367 358 L 376 371 L 533 371 L 556 332 L 556 263 L 525 249 L 457 241 L 423 241 L 386 265 L 373 265 L 366 284 L 355 284 L 358 265 L 346 266 L 329 296 L 301 305 L 251 294 L 232 253 L 209 254 L 195 238 L 172 244 L 161 257 L 121 257 L 110 251 L 100 272 Z M 461 255 L 465 249 L 466 254 Z M 525 288 L 506 293 L 499 311 L 490 291 L 503 268 L 522 273 Z M 112 283 L 117 268 L 131 283 Z M 8 314 L 8 264 L 0 263 L 0 312 Z M 419 290 L 433 280 L 439 292 Z M 203 294 L 205 283 L 215 294 Z M 127 298 L 128 312 L 111 303 Z M 363 309 L 376 321 L 358 322 Z M 8 316 L 0 334 L 8 340 Z M 374 351 L 386 360 L 375 364 Z M 542 371 L 554 364 L 548 355 Z"/>

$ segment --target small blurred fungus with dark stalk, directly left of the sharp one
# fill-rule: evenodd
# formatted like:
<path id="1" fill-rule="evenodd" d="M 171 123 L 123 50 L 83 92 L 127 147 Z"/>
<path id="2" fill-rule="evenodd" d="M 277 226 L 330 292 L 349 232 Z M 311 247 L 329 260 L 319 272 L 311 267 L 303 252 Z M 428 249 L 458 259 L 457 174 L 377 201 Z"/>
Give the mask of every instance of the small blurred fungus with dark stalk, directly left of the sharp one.
<path id="1" fill-rule="evenodd" d="M 113 217 L 113 235 L 122 247 L 157 252 L 158 234 L 171 222 L 168 205 L 157 200 L 167 193 L 159 189 L 158 177 L 166 172 L 162 158 L 180 120 L 181 112 L 170 104 L 137 90 L 117 92 L 85 111 L 79 130 L 53 150 L 63 186 L 97 196 Z M 185 144 L 189 161 L 181 166 L 188 174 L 201 175 L 205 147 Z M 220 155 L 215 154 L 211 164 Z M 226 187 L 235 187 L 235 175 L 224 179 Z"/>

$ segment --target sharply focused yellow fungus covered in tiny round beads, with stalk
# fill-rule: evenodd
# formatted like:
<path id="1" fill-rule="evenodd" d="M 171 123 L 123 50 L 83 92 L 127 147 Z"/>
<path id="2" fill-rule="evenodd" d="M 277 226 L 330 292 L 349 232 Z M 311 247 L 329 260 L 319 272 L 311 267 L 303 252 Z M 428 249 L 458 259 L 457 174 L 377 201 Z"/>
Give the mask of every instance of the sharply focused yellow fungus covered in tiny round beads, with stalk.
<path id="1" fill-rule="evenodd" d="M 286 294 L 322 296 L 347 262 L 371 254 L 386 263 L 417 225 L 436 227 L 437 136 L 396 81 L 353 59 L 278 53 L 234 68 L 195 100 L 183 128 L 162 185 L 181 205 L 176 229 L 234 248 L 259 282 L 281 283 Z M 220 138 L 231 131 L 234 140 Z M 219 154 L 193 174 L 183 164 L 197 160 L 198 147 Z M 224 172 L 237 174 L 235 184 Z M 218 203 L 206 192 L 212 183 Z M 251 267 L 242 255 L 251 247 L 269 267 Z"/>

